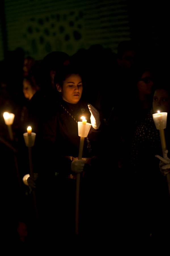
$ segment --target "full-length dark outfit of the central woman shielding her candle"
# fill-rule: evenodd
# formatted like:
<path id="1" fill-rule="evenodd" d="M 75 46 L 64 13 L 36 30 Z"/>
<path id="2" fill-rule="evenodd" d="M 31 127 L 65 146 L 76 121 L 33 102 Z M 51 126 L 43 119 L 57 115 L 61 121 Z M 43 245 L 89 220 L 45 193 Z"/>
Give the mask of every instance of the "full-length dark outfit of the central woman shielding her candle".
<path id="1" fill-rule="evenodd" d="M 66 156 L 78 156 L 80 137 L 76 121 L 81 121 L 82 115 L 90 123 L 87 103 L 80 101 L 78 104 L 69 104 L 63 100 L 56 100 L 56 106 L 44 115 L 42 131 L 39 129 L 33 153 L 34 172 L 39 173 L 36 181 L 39 220 L 43 220 L 44 223 L 39 230 L 44 236 L 53 230 L 56 236 L 75 232 L 75 179 L 68 179 L 71 173 L 71 160 Z M 84 178 L 81 175 L 82 233 L 89 232 L 87 227 L 92 224 L 89 212 L 95 212 L 97 215 L 98 211 L 93 202 L 95 197 L 99 196 L 100 183 L 96 183 L 96 177 L 100 174 L 97 158 L 100 151 L 100 133 L 91 127 L 88 135 L 90 144 L 86 138 L 84 142 L 83 157 L 95 157 L 90 164 L 86 164 Z M 85 215 L 85 212 L 88 214 Z"/>

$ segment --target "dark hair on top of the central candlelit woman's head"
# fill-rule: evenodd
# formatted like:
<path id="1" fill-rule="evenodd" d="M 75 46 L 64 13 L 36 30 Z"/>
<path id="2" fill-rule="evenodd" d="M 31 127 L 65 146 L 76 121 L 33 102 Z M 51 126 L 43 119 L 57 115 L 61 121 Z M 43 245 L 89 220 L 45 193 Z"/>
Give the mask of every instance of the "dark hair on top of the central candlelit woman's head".
<path id="1" fill-rule="evenodd" d="M 60 69 L 56 73 L 54 77 L 54 85 L 60 84 L 60 86 L 62 87 L 63 81 L 66 79 L 66 77 L 72 74 L 78 74 L 82 77 L 81 72 L 77 66 L 74 66 L 74 65 L 64 66 L 62 69 Z"/>

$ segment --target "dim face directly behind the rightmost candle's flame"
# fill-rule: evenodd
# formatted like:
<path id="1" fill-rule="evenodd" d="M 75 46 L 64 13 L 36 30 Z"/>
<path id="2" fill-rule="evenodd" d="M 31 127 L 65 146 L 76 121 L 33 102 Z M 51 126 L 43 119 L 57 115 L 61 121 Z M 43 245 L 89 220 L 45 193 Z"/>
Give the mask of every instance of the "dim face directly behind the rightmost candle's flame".
<path id="1" fill-rule="evenodd" d="M 153 97 L 153 110 L 154 113 L 169 112 L 170 111 L 170 96 L 164 89 L 157 89 Z"/>

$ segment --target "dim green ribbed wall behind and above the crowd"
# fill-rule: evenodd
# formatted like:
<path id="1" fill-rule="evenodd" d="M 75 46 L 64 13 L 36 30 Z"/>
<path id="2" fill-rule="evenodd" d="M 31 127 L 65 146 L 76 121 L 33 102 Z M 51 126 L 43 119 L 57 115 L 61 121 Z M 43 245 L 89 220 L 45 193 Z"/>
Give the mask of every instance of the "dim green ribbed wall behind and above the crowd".
<path id="1" fill-rule="evenodd" d="M 130 38 L 126 0 L 5 0 L 7 45 L 42 59 L 101 44 L 116 51 Z M 1 56 L 1 58 L 3 55 Z"/>

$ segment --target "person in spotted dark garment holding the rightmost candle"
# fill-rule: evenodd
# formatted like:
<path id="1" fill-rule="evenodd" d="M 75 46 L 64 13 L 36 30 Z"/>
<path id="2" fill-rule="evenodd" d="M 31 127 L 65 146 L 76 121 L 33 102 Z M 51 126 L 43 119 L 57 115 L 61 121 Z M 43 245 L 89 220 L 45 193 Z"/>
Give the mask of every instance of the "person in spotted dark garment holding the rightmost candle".
<path id="1" fill-rule="evenodd" d="M 167 86 L 157 87 L 152 105 L 152 110 L 148 112 L 146 119 L 138 125 L 134 134 L 131 170 L 135 174 L 134 184 L 136 185 L 134 185 L 134 189 L 138 210 L 137 218 L 141 214 L 143 219 L 143 222 L 138 222 L 139 230 L 142 230 L 144 236 L 166 237 L 169 223 L 164 219 L 163 214 L 164 212 L 167 215 L 170 214 L 169 192 L 166 178 L 161 175 L 158 163 L 155 161 L 155 154 L 161 155 L 162 150 L 159 130 L 156 129 L 152 114 L 157 113 L 158 110 L 169 113 L 170 91 Z M 165 137 L 168 148 L 170 144 L 168 118 Z M 160 168 L 162 169 L 162 163 Z"/>

